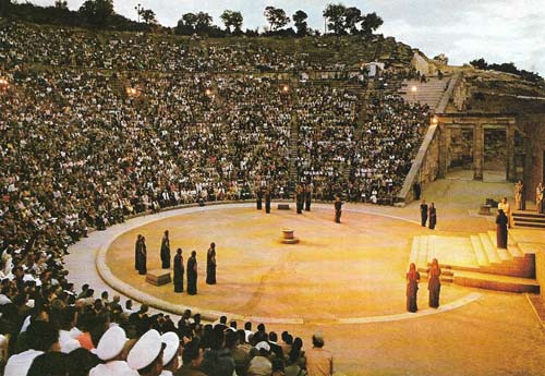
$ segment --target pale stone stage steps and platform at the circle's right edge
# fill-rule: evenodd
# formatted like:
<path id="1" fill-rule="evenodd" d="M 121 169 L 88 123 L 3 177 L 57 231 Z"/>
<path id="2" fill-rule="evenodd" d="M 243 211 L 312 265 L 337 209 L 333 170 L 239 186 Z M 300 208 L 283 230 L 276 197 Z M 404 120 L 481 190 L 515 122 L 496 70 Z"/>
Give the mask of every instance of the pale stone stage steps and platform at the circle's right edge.
<path id="1" fill-rule="evenodd" d="M 441 267 L 441 281 L 508 292 L 538 292 L 533 243 L 517 243 L 509 236 L 507 250 L 496 247 L 496 232 L 471 236 L 414 236 L 410 263 L 427 279 L 432 260 Z"/>

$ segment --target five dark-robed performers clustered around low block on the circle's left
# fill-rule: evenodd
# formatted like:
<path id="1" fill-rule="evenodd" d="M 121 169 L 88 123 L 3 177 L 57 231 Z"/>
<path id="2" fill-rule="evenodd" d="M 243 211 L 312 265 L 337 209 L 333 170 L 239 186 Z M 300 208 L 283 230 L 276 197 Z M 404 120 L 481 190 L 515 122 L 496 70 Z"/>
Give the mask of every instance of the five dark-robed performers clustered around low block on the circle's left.
<path id="1" fill-rule="evenodd" d="M 175 251 L 172 260 L 174 292 L 183 292 L 183 279 L 185 270 L 187 270 L 187 294 L 195 295 L 197 293 L 197 253 L 191 252 L 191 257 L 187 259 L 186 269 L 184 268 L 182 248 Z M 165 231 L 161 240 L 160 248 L 161 268 L 170 269 L 170 239 L 168 230 Z M 216 284 L 216 244 L 210 243 L 206 254 L 206 283 Z M 147 247 L 146 238 L 138 234 L 134 246 L 134 268 L 138 270 L 138 275 L 147 274 Z"/>

